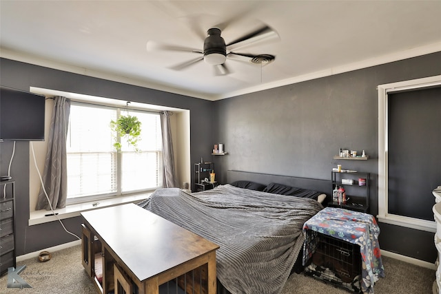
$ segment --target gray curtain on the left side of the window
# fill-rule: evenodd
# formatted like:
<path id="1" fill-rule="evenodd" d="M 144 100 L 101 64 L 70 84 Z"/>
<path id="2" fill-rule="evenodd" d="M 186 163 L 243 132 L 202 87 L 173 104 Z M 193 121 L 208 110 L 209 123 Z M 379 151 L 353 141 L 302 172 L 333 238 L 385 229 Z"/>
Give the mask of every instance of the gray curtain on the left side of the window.
<path id="1" fill-rule="evenodd" d="M 50 131 L 48 134 L 48 152 L 46 154 L 43 185 L 48 193 L 45 196 L 43 187 L 40 189 L 35 209 L 63 208 L 68 198 L 68 174 L 66 160 L 66 135 L 70 114 L 70 100 L 57 96 L 54 98 Z"/>

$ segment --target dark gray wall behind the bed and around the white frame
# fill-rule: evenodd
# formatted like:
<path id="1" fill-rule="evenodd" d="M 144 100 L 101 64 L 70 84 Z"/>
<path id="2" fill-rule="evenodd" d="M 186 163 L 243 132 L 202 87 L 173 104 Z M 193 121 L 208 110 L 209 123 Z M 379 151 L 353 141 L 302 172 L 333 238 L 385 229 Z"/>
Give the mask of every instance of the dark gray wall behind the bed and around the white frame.
<path id="1" fill-rule="evenodd" d="M 371 173 L 370 212 L 376 216 L 376 87 L 439 75 L 440 60 L 441 52 L 436 52 L 214 102 L 215 143 L 224 143 L 229 152 L 214 158 L 216 178 L 225 182 L 226 171 L 232 169 L 330 180 L 331 169 L 339 163 L 343 169 Z M 340 147 L 358 152 L 365 149 L 369 160 L 334 160 Z M 384 223 L 380 229 L 382 249 L 435 262 L 433 233 Z"/>

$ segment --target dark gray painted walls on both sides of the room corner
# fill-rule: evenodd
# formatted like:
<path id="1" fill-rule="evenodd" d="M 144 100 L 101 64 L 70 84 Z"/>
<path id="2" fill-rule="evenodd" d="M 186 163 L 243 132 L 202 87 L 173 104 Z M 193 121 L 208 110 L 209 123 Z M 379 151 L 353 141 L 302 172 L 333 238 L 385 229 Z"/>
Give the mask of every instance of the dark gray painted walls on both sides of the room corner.
<path id="1" fill-rule="evenodd" d="M 190 109 L 191 162 L 212 158 L 216 179 L 236 169 L 329 180 L 338 149 L 365 149 L 367 161 L 341 162 L 369 171 L 371 213 L 378 213 L 378 94 L 376 86 L 441 74 L 441 52 L 314 81 L 228 98 L 203 101 L 99 78 L 1 59 L 1 85 L 30 86 Z M 271 66 L 271 65 L 269 65 Z M 214 124 L 213 124 L 214 118 Z M 211 130 L 214 130 L 213 132 Z M 224 143 L 227 156 L 209 156 Z M 441 142 L 433 142 L 440 144 Z M 1 174 L 6 174 L 12 143 L 0 143 Z M 17 253 L 39 251 L 74 240 L 57 222 L 28 227 L 29 143 L 17 143 L 12 177 L 17 181 Z M 192 167 L 188 167 L 192 171 Z M 193 175 L 192 175 L 193 177 Z M 80 233 L 80 218 L 65 220 Z M 434 262 L 433 233 L 380 224 L 380 247 Z"/>

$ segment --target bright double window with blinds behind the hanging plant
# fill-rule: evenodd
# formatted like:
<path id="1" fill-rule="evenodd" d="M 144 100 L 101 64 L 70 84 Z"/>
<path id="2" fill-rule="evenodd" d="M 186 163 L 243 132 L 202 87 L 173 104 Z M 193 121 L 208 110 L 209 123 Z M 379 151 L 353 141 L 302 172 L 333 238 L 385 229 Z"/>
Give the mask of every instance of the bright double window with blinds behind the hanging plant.
<path id="1" fill-rule="evenodd" d="M 130 114 L 141 121 L 136 153 L 124 138 L 114 148 L 110 120 Z M 73 103 L 68 129 L 68 203 L 122 196 L 162 186 L 163 155 L 158 113 Z"/>

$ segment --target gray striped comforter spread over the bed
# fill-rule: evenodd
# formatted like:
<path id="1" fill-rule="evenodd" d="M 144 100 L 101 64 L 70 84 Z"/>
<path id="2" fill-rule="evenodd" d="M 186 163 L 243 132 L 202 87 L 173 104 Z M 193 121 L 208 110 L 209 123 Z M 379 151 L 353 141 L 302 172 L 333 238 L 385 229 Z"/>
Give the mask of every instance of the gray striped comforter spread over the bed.
<path id="1" fill-rule="evenodd" d="M 188 194 L 158 189 L 139 206 L 220 246 L 218 280 L 231 293 L 280 293 L 303 244 L 316 200 L 222 185 Z"/>

